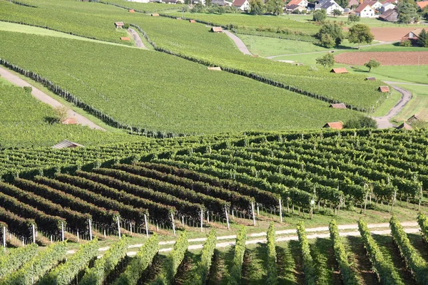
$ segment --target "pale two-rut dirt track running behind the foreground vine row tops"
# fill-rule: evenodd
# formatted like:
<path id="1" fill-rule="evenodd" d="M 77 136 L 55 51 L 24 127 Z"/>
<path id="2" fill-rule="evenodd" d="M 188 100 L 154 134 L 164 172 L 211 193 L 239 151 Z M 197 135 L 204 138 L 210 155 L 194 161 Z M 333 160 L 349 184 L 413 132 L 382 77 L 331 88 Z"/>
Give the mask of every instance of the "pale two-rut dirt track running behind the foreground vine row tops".
<path id="1" fill-rule="evenodd" d="M 414 234 L 419 232 L 419 224 L 417 224 L 417 222 L 402 222 L 402 227 L 404 227 L 404 232 L 406 232 L 407 234 Z M 340 237 L 359 237 L 360 236 L 360 232 L 358 232 L 358 224 L 341 224 L 337 226 L 340 230 Z M 369 229 L 375 229 L 372 230 L 372 234 L 390 234 L 391 230 L 390 229 L 384 229 L 384 228 L 389 228 L 389 223 L 382 223 L 382 224 L 368 224 L 367 227 L 369 227 Z M 315 228 L 309 228 L 306 229 L 307 233 L 315 233 L 315 234 L 307 234 L 307 239 L 325 239 L 330 237 L 330 233 L 329 233 L 329 229 L 328 227 L 315 227 Z M 324 233 L 327 232 L 327 233 Z M 248 240 L 246 242 L 246 244 L 258 244 L 258 243 L 266 243 L 266 232 L 258 232 L 258 233 L 253 233 L 253 234 L 248 234 Z M 290 241 L 290 240 L 297 240 L 297 235 L 296 235 L 296 229 L 284 229 L 284 230 L 280 230 L 280 231 L 276 231 L 276 242 L 286 242 L 286 241 Z M 290 235 L 292 234 L 292 235 Z M 282 237 L 284 236 L 284 237 Z M 263 237 L 260 239 L 252 239 L 255 237 Z M 217 237 L 218 241 L 221 240 L 230 240 L 228 242 L 220 242 L 217 244 L 217 248 L 224 248 L 224 247 L 231 247 L 233 245 L 235 245 L 235 239 L 236 239 L 236 235 L 228 235 L 228 236 L 222 236 L 222 237 Z M 197 239 L 188 239 L 189 243 L 193 243 L 193 242 L 202 242 L 202 244 L 190 244 L 188 249 L 202 249 L 203 248 L 203 242 L 205 242 L 206 238 L 205 237 L 200 237 Z M 175 240 L 171 240 L 171 241 L 165 241 L 165 242 L 159 242 L 159 245 L 163 246 L 163 245 L 173 245 L 175 244 Z M 135 249 L 135 248 L 139 248 L 142 247 L 143 244 L 133 244 L 130 245 L 128 247 L 128 249 Z M 101 247 L 100 249 L 98 249 L 99 252 L 106 252 L 108 249 L 110 249 L 110 247 Z M 160 249 L 159 252 L 170 252 L 172 250 L 172 247 L 168 247 L 168 248 L 163 248 Z M 76 253 L 76 250 L 69 250 L 67 252 L 67 254 L 74 254 Z M 137 254 L 137 252 L 135 251 L 131 251 L 131 252 L 127 252 L 127 255 L 132 257 L 135 256 Z"/>

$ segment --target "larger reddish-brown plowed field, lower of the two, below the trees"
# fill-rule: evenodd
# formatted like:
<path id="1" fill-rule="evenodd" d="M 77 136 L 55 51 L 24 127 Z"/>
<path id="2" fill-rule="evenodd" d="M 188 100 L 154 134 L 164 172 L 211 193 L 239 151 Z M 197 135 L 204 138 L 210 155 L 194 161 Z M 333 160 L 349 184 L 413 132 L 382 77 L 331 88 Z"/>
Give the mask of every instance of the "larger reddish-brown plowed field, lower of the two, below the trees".
<path id="1" fill-rule="evenodd" d="M 362 64 L 374 58 L 382 66 L 416 66 L 428 64 L 428 51 L 359 51 L 339 53 L 335 56 L 337 63 Z"/>

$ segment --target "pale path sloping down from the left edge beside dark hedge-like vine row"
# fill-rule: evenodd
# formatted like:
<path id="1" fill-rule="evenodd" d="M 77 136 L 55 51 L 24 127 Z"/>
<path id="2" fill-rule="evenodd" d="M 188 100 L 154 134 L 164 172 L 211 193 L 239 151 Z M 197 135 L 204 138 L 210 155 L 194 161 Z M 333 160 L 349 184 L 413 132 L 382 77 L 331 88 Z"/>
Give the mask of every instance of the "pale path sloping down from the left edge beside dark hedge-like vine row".
<path id="1" fill-rule="evenodd" d="M 51 105 L 52 108 L 57 108 L 63 106 L 61 103 L 59 103 L 54 98 L 51 98 L 51 96 L 47 95 L 46 93 L 42 92 L 41 90 L 37 89 L 36 87 L 32 86 L 31 84 L 27 83 L 26 81 L 22 80 L 18 76 L 14 75 L 14 73 L 11 73 L 9 70 L 4 68 L 3 66 L 0 66 L 0 76 L 6 81 L 10 81 L 11 83 L 15 84 L 19 87 L 29 86 L 33 90 L 31 91 L 31 95 L 33 95 L 37 100 L 46 103 L 48 105 Z M 68 108 L 67 112 L 68 117 L 74 117 L 78 120 L 78 123 L 80 125 L 87 125 L 91 129 L 96 130 L 104 130 L 99 125 L 96 125 L 91 120 L 88 120 L 88 118 L 83 117 L 83 115 L 80 115 L 73 110 Z"/>

